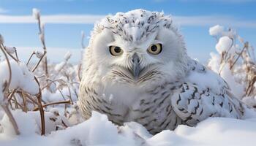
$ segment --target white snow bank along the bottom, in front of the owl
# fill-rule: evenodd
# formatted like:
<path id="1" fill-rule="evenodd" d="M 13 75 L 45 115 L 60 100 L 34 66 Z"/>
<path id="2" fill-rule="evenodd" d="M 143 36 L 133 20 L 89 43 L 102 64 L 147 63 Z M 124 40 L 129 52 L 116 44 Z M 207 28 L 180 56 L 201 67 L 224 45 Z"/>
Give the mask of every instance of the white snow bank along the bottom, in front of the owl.
<path id="1" fill-rule="evenodd" d="M 45 137 L 37 134 L 39 128 L 33 114 L 15 111 L 20 136 L 14 136 L 10 125 L 0 134 L 0 145 L 255 145 L 256 118 L 237 120 L 208 118 L 195 127 L 180 125 L 176 130 L 165 130 L 151 135 L 138 123 L 116 126 L 106 115 L 92 112 L 89 120 L 65 130 L 53 131 Z M 17 116 L 16 116 L 17 115 Z M 26 122 L 24 122 L 26 121 Z M 8 125 L 8 124 L 7 124 Z"/>

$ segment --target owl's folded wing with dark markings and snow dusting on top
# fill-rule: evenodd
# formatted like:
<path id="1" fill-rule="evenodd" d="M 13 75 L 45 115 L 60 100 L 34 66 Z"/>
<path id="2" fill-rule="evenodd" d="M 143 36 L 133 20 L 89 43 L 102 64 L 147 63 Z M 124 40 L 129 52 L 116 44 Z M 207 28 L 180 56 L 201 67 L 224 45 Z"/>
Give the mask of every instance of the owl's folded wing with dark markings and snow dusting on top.
<path id="1" fill-rule="evenodd" d="M 241 118 L 244 104 L 233 96 L 225 80 L 194 60 L 189 69 L 185 82 L 171 97 L 178 117 L 190 126 L 208 117 Z"/>

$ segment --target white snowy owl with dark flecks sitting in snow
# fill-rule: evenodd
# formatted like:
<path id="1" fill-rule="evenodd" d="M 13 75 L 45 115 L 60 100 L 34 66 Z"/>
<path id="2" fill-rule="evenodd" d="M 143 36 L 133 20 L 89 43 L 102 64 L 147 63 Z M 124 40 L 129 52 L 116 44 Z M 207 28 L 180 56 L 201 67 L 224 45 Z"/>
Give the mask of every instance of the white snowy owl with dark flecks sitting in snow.
<path id="1" fill-rule="evenodd" d="M 135 9 L 95 24 L 83 60 L 79 107 L 118 125 L 135 121 L 151 134 L 208 117 L 242 118 L 246 105 L 218 74 L 189 58 L 163 12 Z"/>

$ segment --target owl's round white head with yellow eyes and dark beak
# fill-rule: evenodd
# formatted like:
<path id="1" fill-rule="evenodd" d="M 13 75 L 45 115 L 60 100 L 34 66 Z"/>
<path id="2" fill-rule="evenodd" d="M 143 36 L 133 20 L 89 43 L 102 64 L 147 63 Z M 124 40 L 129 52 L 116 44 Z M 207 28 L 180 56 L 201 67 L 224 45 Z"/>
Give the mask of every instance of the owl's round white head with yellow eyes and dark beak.
<path id="1" fill-rule="evenodd" d="M 95 24 L 83 63 L 87 79 L 143 85 L 182 77 L 187 50 L 170 16 L 135 9 Z"/>

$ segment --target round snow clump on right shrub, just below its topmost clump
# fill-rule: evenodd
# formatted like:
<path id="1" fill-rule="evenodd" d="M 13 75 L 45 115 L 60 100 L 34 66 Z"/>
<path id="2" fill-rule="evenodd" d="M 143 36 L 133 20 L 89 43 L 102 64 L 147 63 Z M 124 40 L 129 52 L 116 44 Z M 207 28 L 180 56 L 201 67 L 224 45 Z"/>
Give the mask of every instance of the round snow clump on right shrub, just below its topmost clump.
<path id="1" fill-rule="evenodd" d="M 228 50 L 230 50 L 232 45 L 232 39 L 230 39 L 229 37 L 221 37 L 216 45 L 216 50 L 218 51 L 219 54 L 221 54 L 224 51 L 227 52 Z"/>

